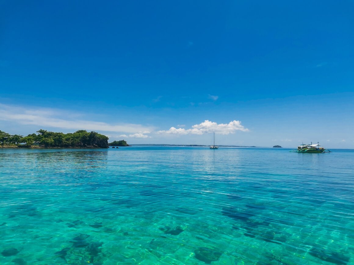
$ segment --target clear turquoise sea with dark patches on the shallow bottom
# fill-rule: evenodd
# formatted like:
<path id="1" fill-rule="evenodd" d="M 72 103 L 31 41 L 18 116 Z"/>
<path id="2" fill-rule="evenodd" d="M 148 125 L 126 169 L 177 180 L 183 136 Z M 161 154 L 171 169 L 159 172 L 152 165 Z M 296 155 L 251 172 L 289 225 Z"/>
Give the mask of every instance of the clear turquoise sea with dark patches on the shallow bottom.
<path id="1" fill-rule="evenodd" d="M 0 264 L 354 264 L 354 150 L 0 149 Z"/>

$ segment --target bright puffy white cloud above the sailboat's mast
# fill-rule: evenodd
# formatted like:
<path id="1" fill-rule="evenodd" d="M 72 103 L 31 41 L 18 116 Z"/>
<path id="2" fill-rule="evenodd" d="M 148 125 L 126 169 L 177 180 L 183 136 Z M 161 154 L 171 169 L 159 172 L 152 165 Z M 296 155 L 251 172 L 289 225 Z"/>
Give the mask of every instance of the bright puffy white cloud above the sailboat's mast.
<path id="1" fill-rule="evenodd" d="M 249 131 L 249 129 L 245 128 L 241 125 L 239 120 L 233 120 L 227 124 L 217 124 L 216 122 L 210 122 L 209 120 L 205 120 L 200 124 L 196 124 L 192 126 L 192 129 L 183 129 L 183 128 L 175 128 L 171 127 L 169 130 L 158 131 L 158 134 L 205 134 L 215 132 L 217 134 L 233 134 L 235 131 Z"/>

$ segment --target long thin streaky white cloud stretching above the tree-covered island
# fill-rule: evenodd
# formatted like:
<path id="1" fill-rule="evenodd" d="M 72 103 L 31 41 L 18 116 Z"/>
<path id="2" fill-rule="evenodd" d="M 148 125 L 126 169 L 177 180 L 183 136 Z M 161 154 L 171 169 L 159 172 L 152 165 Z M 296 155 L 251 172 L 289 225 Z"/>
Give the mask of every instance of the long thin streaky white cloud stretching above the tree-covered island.
<path id="1" fill-rule="evenodd" d="M 51 108 L 23 108 L 0 104 L 0 120 L 16 122 L 24 125 L 38 125 L 70 130 L 114 131 L 124 133 L 149 133 L 153 127 L 141 124 L 108 124 L 85 120 L 80 113 L 72 113 Z"/>

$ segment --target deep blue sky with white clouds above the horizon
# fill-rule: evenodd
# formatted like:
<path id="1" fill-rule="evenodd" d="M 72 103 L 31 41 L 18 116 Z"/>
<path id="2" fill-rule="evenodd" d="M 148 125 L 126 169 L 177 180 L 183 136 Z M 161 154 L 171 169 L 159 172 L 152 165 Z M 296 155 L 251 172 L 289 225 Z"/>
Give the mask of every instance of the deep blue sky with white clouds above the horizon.
<path id="1" fill-rule="evenodd" d="M 353 11 L 353 1 L 2 1 L 0 130 L 354 148 Z"/>

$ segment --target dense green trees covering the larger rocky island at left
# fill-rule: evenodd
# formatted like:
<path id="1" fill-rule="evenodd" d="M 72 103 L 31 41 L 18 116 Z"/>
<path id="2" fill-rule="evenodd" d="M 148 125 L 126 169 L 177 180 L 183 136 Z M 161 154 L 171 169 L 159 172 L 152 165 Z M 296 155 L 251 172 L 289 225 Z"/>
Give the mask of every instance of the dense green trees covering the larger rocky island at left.
<path id="1" fill-rule="evenodd" d="M 94 131 L 90 133 L 85 130 L 79 130 L 75 133 L 55 133 L 52 131 L 38 130 L 38 134 L 10 135 L 0 131 L 1 145 L 42 145 L 44 147 L 108 147 L 108 137 Z"/>

